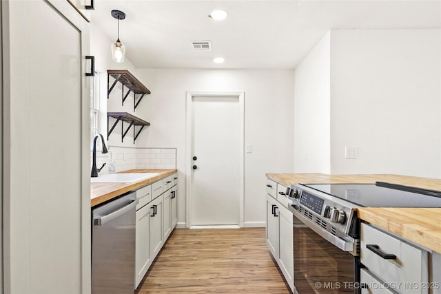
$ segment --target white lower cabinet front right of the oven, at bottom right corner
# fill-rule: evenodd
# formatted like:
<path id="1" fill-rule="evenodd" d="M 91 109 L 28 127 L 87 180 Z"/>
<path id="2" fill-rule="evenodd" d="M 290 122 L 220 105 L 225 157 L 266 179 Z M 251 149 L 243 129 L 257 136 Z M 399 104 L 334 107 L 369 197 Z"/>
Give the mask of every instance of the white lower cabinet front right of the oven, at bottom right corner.
<path id="1" fill-rule="evenodd" d="M 427 251 L 369 224 L 362 223 L 360 229 L 362 293 L 437 293 L 439 284 L 429 280 Z M 390 288 L 393 291 L 387 291 Z"/>

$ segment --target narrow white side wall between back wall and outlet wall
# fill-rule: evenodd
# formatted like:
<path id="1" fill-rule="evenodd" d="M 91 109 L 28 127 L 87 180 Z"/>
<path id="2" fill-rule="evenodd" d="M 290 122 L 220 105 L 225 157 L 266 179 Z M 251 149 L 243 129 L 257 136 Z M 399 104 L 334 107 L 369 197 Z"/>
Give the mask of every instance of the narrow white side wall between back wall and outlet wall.
<path id="1" fill-rule="evenodd" d="M 294 72 L 294 172 L 329 174 L 330 34 Z"/>

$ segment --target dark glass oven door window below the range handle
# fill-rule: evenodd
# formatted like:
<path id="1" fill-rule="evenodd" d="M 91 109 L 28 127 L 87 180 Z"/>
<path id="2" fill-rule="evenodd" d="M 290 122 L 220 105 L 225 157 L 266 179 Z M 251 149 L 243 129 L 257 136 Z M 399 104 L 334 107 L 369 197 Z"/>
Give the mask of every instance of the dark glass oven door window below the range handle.
<path id="1" fill-rule="evenodd" d="M 351 253 L 341 251 L 302 222 L 294 224 L 294 284 L 298 293 L 357 293 L 355 264 Z"/>

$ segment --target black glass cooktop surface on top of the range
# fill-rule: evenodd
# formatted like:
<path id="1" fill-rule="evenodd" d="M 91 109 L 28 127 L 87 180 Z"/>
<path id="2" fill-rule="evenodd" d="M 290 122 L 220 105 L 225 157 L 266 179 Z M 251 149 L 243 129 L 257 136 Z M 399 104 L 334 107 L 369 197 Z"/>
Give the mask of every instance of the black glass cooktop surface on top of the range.
<path id="1" fill-rule="evenodd" d="M 303 184 L 360 207 L 441 207 L 441 191 L 376 184 Z"/>

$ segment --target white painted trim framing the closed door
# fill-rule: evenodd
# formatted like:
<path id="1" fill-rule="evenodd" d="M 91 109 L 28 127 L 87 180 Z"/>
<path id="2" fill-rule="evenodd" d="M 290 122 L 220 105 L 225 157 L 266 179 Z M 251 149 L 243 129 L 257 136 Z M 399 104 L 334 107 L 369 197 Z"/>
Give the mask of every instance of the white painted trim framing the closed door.
<path id="1" fill-rule="evenodd" d="M 193 97 L 237 97 L 239 99 L 239 115 L 240 115 L 240 123 L 242 126 L 240 127 L 239 133 L 239 227 L 244 226 L 244 209 L 245 209 L 245 174 L 244 174 L 244 152 L 245 152 L 245 92 L 187 92 L 187 125 L 186 125 L 186 150 L 185 150 L 185 183 L 186 183 L 186 227 L 190 228 L 192 224 L 192 187 L 191 187 L 191 175 L 192 175 L 192 165 L 190 164 L 190 158 L 192 158 L 192 98 Z"/>

